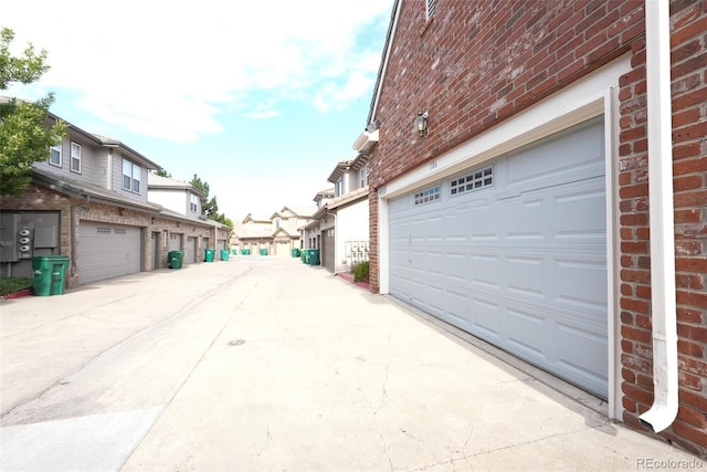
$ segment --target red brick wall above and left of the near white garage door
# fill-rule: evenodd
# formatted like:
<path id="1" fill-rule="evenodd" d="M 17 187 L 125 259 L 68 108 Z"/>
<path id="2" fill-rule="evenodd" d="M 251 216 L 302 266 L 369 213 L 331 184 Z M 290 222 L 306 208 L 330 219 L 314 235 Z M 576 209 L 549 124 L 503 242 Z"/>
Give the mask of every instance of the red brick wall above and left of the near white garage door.
<path id="1" fill-rule="evenodd" d="M 374 119 L 369 166 L 371 290 L 378 291 L 377 191 L 613 59 L 643 34 L 643 1 L 403 1 Z M 412 122 L 430 112 L 430 133 Z"/>

